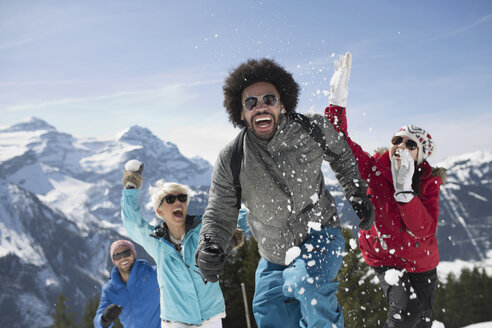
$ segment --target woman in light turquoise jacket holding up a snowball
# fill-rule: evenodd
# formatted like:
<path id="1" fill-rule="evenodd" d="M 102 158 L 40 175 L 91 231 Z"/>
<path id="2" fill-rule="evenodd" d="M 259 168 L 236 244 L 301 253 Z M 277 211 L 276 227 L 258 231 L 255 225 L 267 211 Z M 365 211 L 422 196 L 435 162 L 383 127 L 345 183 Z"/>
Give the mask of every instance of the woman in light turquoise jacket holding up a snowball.
<path id="1" fill-rule="evenodd" d="M 143 163 L 137 160 L 125 164 L 121 212 L 130 238 L 140 244 L 157 264 L 161 327 L 222 327 L 225 303 L 219 283 L 206 281 L 195 265 L 202 217 L 187 213 L 189 188 L 159 180 L 149 189 L 154 212 L 163 220 L 154 227 L 140 213 L 138 197 L 142 171 Z M 241 211 L 239 220 L 244 221 L 246 215 L 247 210 Z M 236 229 L 229 253 L 243 241 L 244 234 Z"/>

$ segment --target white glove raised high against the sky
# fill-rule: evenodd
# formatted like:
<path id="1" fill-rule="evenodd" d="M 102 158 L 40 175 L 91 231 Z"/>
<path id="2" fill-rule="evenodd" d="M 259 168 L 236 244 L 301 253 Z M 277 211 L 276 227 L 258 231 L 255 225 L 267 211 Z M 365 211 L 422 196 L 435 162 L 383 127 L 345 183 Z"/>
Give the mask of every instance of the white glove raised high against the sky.
<path id="1" fill-rule="evenodd" d="M 332 105 L 347 107 L 348 79 L 352 67 L 352 55 L 347 52 L 335 60 L 335 72 L 330 80 L 330 96 L 328 101 Z"/>

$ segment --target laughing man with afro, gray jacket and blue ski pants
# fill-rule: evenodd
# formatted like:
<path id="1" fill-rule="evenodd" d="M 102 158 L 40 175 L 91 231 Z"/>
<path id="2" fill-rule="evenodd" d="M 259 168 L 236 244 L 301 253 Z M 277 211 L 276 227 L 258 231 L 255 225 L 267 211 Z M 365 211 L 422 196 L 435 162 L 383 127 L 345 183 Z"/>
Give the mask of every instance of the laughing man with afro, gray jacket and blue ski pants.
<path id="1" fill-rule="evenodd" d="M 253 299 L 258 327 L 343 327 L 333 280 L 345 244 L 321 164 L 331 165 L 361 228 L 369 229 L 374 208 L 350 147 L 322 115 L 296 113 L 299 85 L 271 59 L 239 65 L 223 89 L 229 120 L 246 129 L 239 140 L 239 182 L 261 255 Z M 218 156 L 203 216 L 196 260 L 210 281 L 223 270 L 237 224 L 238 188 L 231 169 L 236 144 Z"/>

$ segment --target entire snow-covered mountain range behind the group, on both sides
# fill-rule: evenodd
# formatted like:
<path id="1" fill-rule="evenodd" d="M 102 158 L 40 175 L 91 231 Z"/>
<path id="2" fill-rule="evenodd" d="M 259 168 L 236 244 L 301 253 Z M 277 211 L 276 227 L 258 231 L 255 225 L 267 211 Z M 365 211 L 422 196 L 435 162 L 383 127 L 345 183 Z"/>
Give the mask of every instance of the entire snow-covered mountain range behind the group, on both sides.
<path id="1" fill-rule="evenodd" d="M 49 326 L 59 292 L 82 310 L 99 295 L 112 263 L 112 241 L 125 238 L 120 219 L 124 163 L 145 163 L 147 190 L 157 179 L 192 188 L 190 213 L 202 213 L 212 166 L 133 126 L 110 140 L 77 139 L 30 118 L 0 129 L 0 317 L 2 327 Z M 492 152 L 450 158 L 441 193 L 442 260 L 480 260 L 492 240 Z M 336 180 L 327 173 L 344 223 L 357 226 Z M 143 215 L 154 217 L 142 192 Z M 147 258 L 137 247 L 139 257 Z M 41 323 L 41 324 L 40 324 Z"/>

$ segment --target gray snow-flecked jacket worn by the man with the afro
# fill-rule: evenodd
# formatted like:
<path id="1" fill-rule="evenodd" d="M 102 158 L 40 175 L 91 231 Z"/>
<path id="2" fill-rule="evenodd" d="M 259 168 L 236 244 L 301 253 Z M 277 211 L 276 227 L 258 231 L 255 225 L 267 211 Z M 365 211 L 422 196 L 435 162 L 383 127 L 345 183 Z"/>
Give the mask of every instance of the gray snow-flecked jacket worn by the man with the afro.
<path id="1" fill-rule="evenodd" d="M 330 163 L 347 198 L 367 189 L 345 138 L 322 115 L 309 118 L 320 126 L 331 154 L 325 154 L 299 123 L 284 115 L 272 140 L 260 140 L 249 130 L 244 138 L 239 180 L 242 201 L 250 211 L 248 225 L 260 255 L 280 265 L 285 265 L 289 248 L 304 243 L 310 229 L 340 226 L 335 201 L 325 188 L 323 160 Z M 233 146 L 229 143 L 215 164 L 200 233 L 200 243 L 207 237 L 224 250 L 238 217 L 230 168 Z"/>

